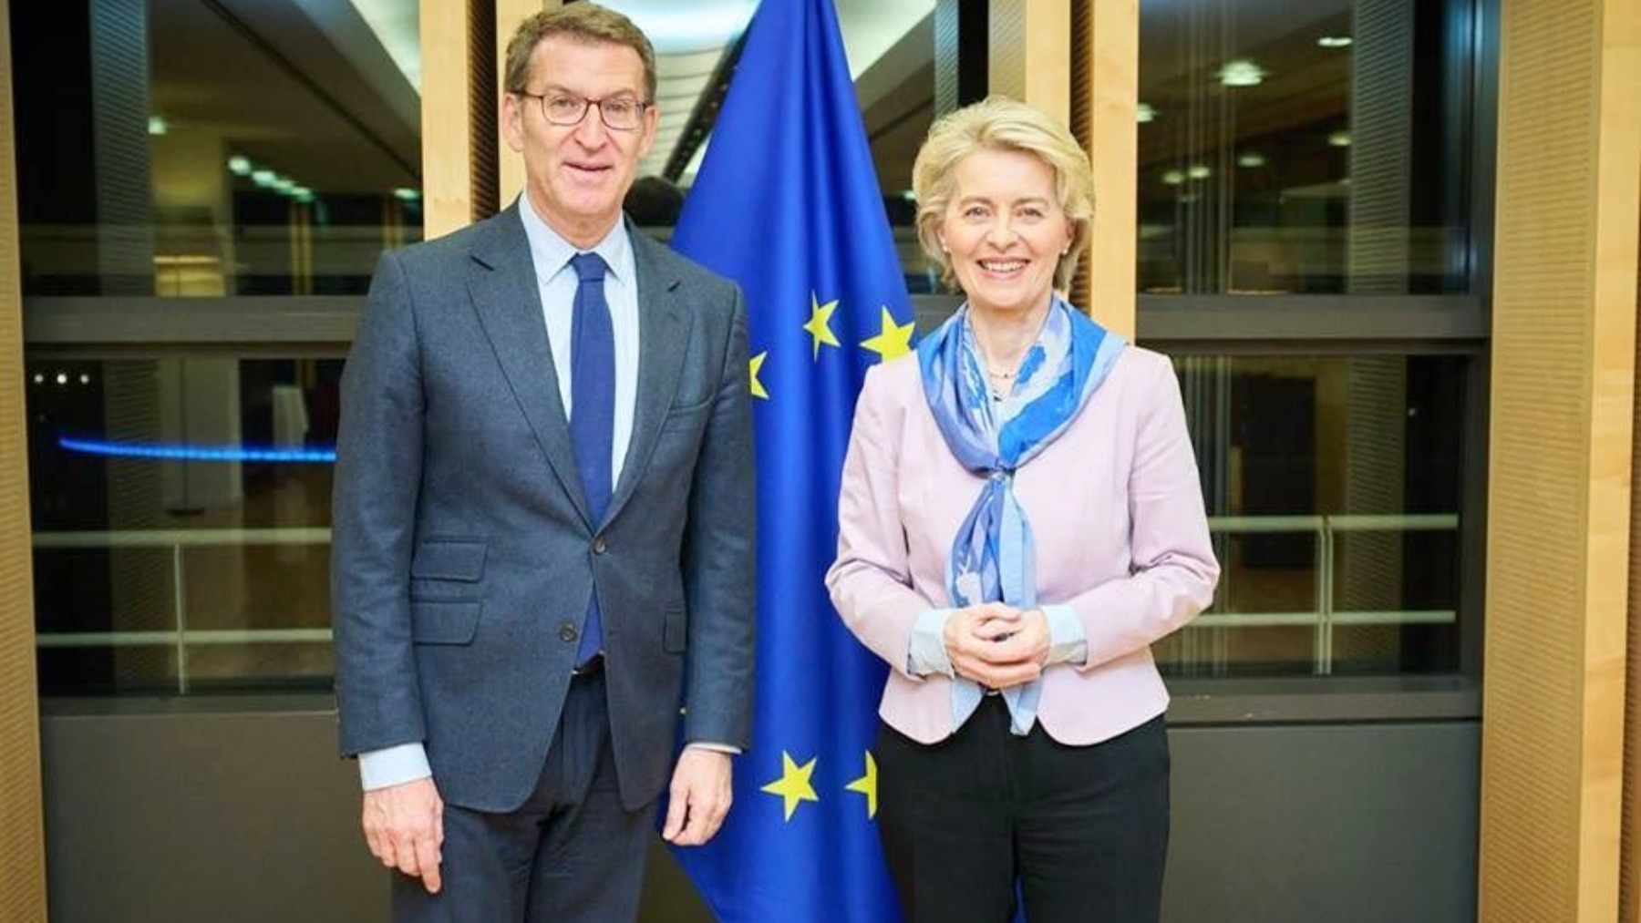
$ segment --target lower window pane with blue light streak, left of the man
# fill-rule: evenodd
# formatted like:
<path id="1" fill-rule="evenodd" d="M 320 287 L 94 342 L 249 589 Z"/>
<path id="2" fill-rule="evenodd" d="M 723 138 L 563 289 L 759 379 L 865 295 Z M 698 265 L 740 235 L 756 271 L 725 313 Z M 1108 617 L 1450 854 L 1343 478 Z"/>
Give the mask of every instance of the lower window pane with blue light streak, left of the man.
<path id="1" fill-rule="evenodd" d="M 328 685 L 340 375 L 30 359 L 43 692 Z"/>

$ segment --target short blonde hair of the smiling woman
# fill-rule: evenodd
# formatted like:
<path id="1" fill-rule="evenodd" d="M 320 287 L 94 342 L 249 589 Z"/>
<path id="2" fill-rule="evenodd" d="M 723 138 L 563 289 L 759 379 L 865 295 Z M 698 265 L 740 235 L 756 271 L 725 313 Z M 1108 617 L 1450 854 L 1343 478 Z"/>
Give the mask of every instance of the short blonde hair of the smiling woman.
<path id="1" fill-rule="evenodd" d="M 917 241 L 940 271 L 940 280 L 957 289 L 950 254 L 940 246 L 940 223 L 952 202 L 957 164 L 975 151 L 1022 151 L 1035 154 L 1054 171 L 1055 195 L 1072 221 L 1072 248 L 1054 269 L 1054 287 L 1068 289 L 1093 226 L 1095 171 L 1088 154 L 1063 125 L 1001 95 L 986 97 L 935 120 L 912 164 Z"/>

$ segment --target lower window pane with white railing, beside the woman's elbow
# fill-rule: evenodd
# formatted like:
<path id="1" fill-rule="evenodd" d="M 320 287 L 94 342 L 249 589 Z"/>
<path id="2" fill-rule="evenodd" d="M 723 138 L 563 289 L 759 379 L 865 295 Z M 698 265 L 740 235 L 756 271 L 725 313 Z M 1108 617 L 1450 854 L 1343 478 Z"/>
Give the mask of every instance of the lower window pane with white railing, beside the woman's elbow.
<path id="1" fill-rule="evenodd" d="M 1175 366 L 1224 572 L 1163 671 L 1456 671 L 1467 359 Z"/>

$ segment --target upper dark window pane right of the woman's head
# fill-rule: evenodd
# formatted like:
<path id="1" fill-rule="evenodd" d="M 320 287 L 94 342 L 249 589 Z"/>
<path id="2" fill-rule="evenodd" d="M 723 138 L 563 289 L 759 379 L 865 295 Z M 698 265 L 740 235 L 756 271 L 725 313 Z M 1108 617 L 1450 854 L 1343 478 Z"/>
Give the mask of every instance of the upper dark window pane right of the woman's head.
<path id="1" fill-rule="evenodd" d="M 1139 289 L 1464 292 L 1469 20 L 1142 0 Z"/>

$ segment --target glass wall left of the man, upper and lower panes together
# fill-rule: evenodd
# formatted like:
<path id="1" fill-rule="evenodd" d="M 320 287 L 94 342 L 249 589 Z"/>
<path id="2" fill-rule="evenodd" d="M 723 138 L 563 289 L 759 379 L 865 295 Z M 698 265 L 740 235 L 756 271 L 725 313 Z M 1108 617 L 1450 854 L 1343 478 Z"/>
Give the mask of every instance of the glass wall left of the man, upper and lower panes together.
<path id="1" fill-rule="evenodd" d="M 10 5 L 43 692 L 330 687 L 341 356 L 422 236 L 417 13 Z"/>

